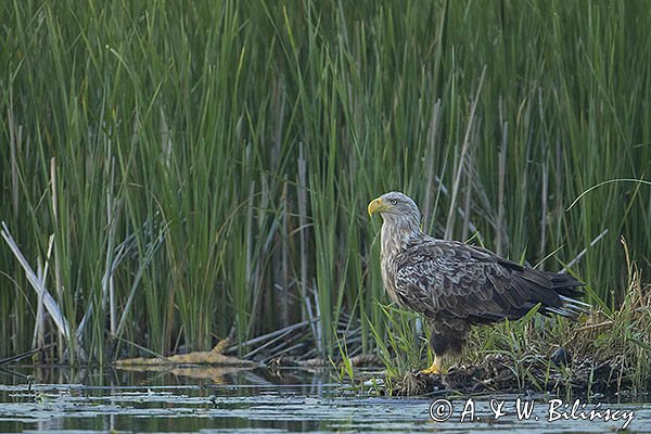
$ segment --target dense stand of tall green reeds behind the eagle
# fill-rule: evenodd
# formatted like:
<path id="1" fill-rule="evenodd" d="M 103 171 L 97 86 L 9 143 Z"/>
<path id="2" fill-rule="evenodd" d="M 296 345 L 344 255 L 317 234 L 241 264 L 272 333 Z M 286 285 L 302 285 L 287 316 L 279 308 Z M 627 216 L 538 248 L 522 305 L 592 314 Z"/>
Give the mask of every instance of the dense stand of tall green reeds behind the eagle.
<path id="1" fill-rule="evenodd" d="M 2 242 L 0 357 L 301 321 L 316 343 L 297 349 L 355 331 L 370 350 L 386 296 L 366 204 L 392 189 L 427 232 L 553 253 L 545 269 L 608 230 L 573 272 L 620 301 L 617 239 L 649 265 L 651 190 L 565 207 L 651 173 L 651 10 L 500 4 L 3 2 L 0 218 L 71 333 Z"/>

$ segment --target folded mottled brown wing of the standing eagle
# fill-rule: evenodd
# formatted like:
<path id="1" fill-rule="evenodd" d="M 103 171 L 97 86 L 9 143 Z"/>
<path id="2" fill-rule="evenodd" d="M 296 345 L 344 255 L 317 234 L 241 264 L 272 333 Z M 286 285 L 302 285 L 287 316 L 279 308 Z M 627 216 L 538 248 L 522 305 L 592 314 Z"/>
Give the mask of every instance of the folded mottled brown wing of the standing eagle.
<path id="1" fill-rule="evenodd" d="M 397 255 L 398 299 L 426 318 L 470 323 L 518 319 L 540 303 L 540 312 L 575 317 L 580 282 L 567 275 L 525 268 L 468 244 L 422 237 Z M 575 302 L 575 303 L 572 303 Z"/>

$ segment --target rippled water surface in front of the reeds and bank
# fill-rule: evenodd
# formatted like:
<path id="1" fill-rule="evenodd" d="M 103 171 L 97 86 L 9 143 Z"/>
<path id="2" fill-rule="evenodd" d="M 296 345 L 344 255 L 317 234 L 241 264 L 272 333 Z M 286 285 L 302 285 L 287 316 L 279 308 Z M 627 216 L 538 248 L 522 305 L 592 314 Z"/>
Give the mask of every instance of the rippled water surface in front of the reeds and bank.
<path id="1" fill-rule="evenodd" d="M 651 432 L 651 404 L 607 404 L 617 420 L 548 422 L 550 399 L 533 403 L 519 420 L 516 396 L 435 396 L 388 398 L 354 390 L 333 380 L 331 372 L 264 369 L 183 369 L 175 372 L 126 372 L 49 368 L 22 374 L 39 379 L 28 391 L 24 378 L 0 374 L 0 432 L 455 432 L 502 431 L 544 433 L 616 432 L 634 412 L 628 430 Z M 471 400 L 469 400 L 471 399 Z M 490 399 L 495 399 L 493 403 Z M 436 401 L 436 408 L 431 409 Z M 497 420 L 499 403 L 506 414 Z M 554 401 L 551 401 L 556 405 Z M 560 416 L 559 401 L 553 417 Z M 580 407 L 580 404 L 586 404 Z M 597 401 L 579 403 L 574 417 L 589 416 Z M 450 407 L 451 406 L 451 407 Z M 438 419 L 436 422 L 430 411 Z M 465 412 L 463 412 L 465 410 Z M 472 411 L 471 411 L 472 410 Z M 565 414 L 572 417 L 571 408 Z M 618 410 L 617 413 L 614 413 Z M 438 416 L 437 416 L 438 414 Z M 464 421 L 461 422 L 463 414 Z M 536 420 L 537 419 L 537 420 Z"/>

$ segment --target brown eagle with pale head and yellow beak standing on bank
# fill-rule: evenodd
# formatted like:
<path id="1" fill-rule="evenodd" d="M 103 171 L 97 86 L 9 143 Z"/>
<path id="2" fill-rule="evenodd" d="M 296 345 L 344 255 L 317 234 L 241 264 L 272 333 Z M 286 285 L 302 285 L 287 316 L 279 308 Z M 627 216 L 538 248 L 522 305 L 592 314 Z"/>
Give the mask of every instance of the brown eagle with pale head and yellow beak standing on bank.
<path id="1" fill-rule="evenodd" d="M 583 283 L 570 275 L 535 270 L 423 233 L 418 206 L 403 193 L 381 195 L 368 212 L 384 220 L 381 267 L 388 295 L 421 314 L 431 328 L 434 363 L 424 373 L 442 372 L 442 357 L 461 352 L 471 326 L 519 319 L 537 304 L 542 315 L 572 319 L 589 306 L 575 299 Z"/>

